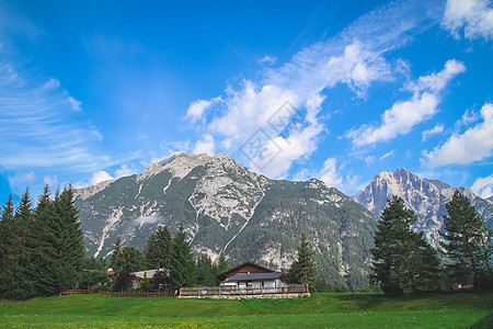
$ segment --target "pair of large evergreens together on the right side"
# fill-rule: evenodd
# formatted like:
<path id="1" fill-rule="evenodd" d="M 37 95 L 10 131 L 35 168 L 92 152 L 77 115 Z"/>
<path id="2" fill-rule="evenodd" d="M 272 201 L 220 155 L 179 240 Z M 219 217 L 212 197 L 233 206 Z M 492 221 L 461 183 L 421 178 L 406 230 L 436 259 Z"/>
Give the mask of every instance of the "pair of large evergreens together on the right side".
<path id="1" fill-rule="evenodd" d="M 478 290 L 493 288 L 491 230 L 469 200 L 455 192 L 446 204 L 444 251 L 429 246 L 423 232 L 411 229 L 416 214 L 401 197 L 388 201 L 371 249 L 370 282 L 388 296 L 449 290 L 472 284 Z M 439 257 L 442 252 L 442 257 Z"/>

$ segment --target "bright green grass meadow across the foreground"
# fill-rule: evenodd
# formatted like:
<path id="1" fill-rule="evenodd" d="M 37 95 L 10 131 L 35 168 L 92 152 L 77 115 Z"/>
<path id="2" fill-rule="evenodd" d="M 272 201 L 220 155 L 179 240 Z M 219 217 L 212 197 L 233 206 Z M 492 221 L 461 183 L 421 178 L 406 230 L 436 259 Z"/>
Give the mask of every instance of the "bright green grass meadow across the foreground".
<path id="1" fill-rule="evenodd" d="M 493 328 L 493 293 L 386 298 L 176 299 L 69 295 L 0 302 L 0 328 Z"/>

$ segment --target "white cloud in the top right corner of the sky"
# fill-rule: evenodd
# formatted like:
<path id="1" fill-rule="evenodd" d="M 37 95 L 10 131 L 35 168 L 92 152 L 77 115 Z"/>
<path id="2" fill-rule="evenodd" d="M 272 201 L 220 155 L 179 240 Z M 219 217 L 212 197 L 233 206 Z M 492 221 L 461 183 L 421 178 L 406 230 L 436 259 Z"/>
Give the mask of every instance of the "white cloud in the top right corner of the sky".
<path id="1" fill-rule="evenodd" d="M 447 0 L 442 27 L 459 38 L 459 30 L 469 39 L 493 38 L 493 9 L 488 0 Z"/>

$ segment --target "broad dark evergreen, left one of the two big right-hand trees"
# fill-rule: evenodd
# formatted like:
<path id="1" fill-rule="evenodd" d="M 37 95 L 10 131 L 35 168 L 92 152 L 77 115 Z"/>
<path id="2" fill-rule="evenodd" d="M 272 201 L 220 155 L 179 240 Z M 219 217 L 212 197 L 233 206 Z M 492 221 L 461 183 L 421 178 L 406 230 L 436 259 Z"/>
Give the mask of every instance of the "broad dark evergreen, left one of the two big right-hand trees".
<path id="1" fill-rule="evenodd" d="M 393 196 L 381 214 L 371 249 L 370 281 L 388 296 L 434 290 L 438 273 L 436 251 L 411 229 L 414 212 Z"/>

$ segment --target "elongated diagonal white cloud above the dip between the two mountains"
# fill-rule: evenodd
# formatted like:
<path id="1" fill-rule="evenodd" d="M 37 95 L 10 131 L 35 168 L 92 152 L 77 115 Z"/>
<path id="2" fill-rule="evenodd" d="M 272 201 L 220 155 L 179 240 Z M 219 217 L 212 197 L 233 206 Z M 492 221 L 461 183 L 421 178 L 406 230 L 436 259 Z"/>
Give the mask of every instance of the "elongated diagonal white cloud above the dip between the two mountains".
<path id="1" fill-rule="evenodd" d="M 409 83 L 406 88 L 414 92 L 408 101 L 395 102 L 390 110 L 381 116 L 379 127 L 363 125 L 346 134 L 357 147 L 385 141 L 404 135 L 419 123 L 428 120 L 438 111 L 438 92 L 466 67 L 455 60 L 448 60 L 444 69 L 438 73 L 420 77 L 416 82 Z"/>

